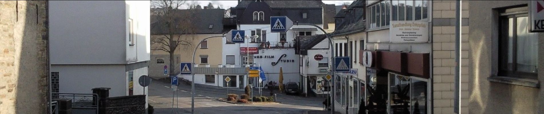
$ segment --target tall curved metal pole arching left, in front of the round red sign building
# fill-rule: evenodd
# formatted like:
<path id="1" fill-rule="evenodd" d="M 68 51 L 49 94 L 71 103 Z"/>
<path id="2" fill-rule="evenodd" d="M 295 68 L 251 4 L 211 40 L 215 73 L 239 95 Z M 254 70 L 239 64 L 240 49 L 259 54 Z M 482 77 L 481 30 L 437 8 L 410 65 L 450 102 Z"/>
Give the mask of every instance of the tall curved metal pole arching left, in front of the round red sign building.
<path id="1" fill-rule="evenodd" d="M 331 73 L 331 76 L 335 76 L 335 72 L 336 72 L 336 68 L 334 67 L 335 65 L 335 61 L 334 61 L 334 53 L 335 53 L 335 50 L 333 49 L 334 48 L 334 45 L 332 45 L 332 38 L 330 35 L 327 34 L 327 32 L 325 30 L 323 30 L 323 28 L 321 28 L 320 26 L 318 25 L 315 25 L 315 24 L 311 24 L 311 23 L 296 23 L 296 25 L 311 25 L 311 26 L 314 26 L 316 28 L 318 28 L 319 30 L 323 31 L 323 33 L 325 33 L 325 36 L 327 36 L 327 39 L 329 39 L 329 44 L 331 45 L 329 49 L 331 49 L 331 56 L 329 57 L 329 59 L 331 60 L 331 70 L 332 70 L 332 73 Z M 336 76 L 335 76 L 336 77 Z M 334 77 L 332 78 L 332 84 L 330 86 L 330 88 L 334 88 L 334 84 L 336 83 L 336 81 L 334 80 Z M 336 89 L 331 89 L 333 93 L 336 92 Z M 330 92 L 330 91 L 329 91 Z M 335 112 L 335 103 L 334 103 L 334 98 L 335 98 L 335 95 L 334 94 L 330 94 L 331 95 L 331 113 L 334 113 Z"/>

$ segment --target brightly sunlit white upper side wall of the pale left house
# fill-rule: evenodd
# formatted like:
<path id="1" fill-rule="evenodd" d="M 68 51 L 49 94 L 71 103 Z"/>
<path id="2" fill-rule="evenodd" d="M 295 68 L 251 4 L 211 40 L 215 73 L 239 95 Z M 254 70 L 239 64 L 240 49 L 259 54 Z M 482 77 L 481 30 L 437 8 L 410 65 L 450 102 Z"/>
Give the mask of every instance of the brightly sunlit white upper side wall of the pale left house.
<path id="1" fill-rule="evenodd" d="M 126 61 L 128 63 L 149 61 L 150 48 L 150 1 L 125 1 L 126 3 Z M 135 32 L 135 45 L 130 46 L 129 19 L 132 19 Z"/>

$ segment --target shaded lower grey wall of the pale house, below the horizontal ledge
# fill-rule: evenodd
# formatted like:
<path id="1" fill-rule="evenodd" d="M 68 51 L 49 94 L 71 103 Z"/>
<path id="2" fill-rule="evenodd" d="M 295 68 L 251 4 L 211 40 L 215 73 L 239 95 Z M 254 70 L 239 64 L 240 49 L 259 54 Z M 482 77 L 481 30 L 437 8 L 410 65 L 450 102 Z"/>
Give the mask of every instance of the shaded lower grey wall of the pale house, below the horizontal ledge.
<path id="1" fill-rule="evenodd" d="M 51 72 L 59 72 L 61 93 L 92 93 L 93 88 L 111 88 L 110 97 L 127 95 L 125 65 L 51 65 Z"/>

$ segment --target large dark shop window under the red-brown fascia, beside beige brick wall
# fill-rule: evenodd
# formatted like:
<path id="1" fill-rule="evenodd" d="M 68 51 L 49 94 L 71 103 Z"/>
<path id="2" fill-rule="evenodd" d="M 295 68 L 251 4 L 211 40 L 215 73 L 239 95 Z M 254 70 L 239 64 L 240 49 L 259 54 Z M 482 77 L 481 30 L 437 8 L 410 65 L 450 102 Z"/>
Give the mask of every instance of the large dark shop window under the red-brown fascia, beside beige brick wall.
<path id="1" fill-rule="evenodd" d="M 390 113 L 426 113 L 428 80 L 389 73 Z"/>

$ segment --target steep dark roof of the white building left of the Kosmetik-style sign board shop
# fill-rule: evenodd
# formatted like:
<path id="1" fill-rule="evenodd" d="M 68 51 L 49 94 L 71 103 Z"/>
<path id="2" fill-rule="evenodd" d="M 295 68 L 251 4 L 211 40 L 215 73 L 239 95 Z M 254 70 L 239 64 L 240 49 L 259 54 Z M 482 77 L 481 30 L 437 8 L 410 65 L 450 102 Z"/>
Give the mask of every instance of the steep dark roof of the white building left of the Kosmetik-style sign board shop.
<path id="1" fill-rule="evenodd" d="M 355 1 L 348 6 L 347 9 L 339 11 L 335 31 L 331 36 L 349 35 L 366 29 L 364 22 L 364 1 Z"/>

